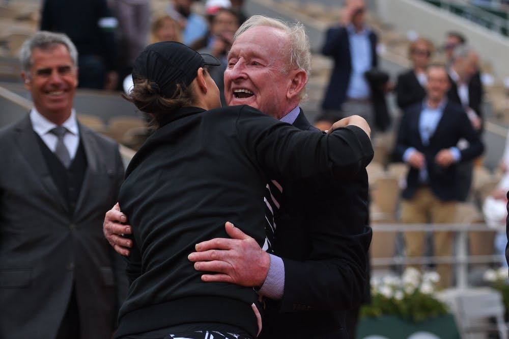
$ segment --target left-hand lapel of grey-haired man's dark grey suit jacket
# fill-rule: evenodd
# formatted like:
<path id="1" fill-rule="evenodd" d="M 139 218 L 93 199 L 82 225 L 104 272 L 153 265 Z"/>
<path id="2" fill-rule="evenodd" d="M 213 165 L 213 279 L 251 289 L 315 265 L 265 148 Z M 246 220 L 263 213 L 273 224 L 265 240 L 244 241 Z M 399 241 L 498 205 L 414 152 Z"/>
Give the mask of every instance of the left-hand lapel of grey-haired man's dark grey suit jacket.
<path id="1" fill-rule="evenodd" d="M 39 148 L 39 142 L 35 135 L 34 129 L 32 128 L 32 122 L 30 116 L 26 116 L 21 120 L 15 127 L 16 129 L 16 144 L 19 147 L 20 153 L 23 154 L 29 167 L 35 172 L 34 174 L 40 179 L 44 190 L 46 191 L 48 198 L 54 200 L 59 206 L 63 208 L 67 213 L 69 207 L 64 200 L 64 197 L 56 187 L 51 173 L 49 173 L 46 160 L 42 155 Z"/>

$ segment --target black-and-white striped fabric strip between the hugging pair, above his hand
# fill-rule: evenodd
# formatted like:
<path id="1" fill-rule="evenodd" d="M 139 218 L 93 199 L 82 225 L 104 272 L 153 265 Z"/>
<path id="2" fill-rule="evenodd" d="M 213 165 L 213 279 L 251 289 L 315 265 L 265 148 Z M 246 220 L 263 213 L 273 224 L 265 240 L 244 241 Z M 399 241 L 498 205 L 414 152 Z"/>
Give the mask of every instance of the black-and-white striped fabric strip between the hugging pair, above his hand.
<path id="1" fill-rule="evenodd" d="M 273 252 L 273 241 L 276 234 L 276 223 L 274 218 L 279 213 L 279 201 L 281 201 L 282 187 L 277 181 L 271 180 L 265 187 L 265 244 L 263 249 L 269 253 Z"/>

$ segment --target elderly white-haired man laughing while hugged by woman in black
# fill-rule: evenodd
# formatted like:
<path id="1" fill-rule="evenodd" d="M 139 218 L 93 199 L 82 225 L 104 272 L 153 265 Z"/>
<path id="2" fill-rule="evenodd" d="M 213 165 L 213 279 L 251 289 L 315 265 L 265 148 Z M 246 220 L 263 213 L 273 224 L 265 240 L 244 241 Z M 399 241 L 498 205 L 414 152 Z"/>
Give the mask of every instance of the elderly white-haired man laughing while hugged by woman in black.
<path id="1" fill-rule="evenodd" d="M 309 68 L 302 25 L 253 16 L 235 34 L 224 73 L 225 98 L 228 105 L 249 105 L 314 131 L 299 108 Z M 366 226 L 367 174 L 363 170 L 332 186 L 323 180 L 269 183 L 266 203 L 271 214 L 263 249 L 227 224 L 232 239 L 197 244 L 189 255 L 195 269 L 208 271 L 202 276 L 205 282 L 259 290 L 266 308 L 260 337 L 348 337 L 345 310 L 361 300 L 372 235 Z M 127 254 L 129 241 L 112 233 L 129 233 L 131 228 L 115 220 L 127 221 L 118 206 L 106 215 L 105 235 Z"/>

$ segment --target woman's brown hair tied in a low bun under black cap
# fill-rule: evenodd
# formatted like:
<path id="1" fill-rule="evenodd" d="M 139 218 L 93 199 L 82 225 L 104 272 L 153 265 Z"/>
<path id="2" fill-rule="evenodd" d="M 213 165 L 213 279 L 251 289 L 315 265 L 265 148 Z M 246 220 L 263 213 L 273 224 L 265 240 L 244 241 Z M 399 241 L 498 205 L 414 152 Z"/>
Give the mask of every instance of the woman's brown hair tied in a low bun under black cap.
<path id="1" fill-rule="evenodd" d="M 138 110 L 150 115 L 152 120 L 149 125 L 154 129 L 161 125 L 167 114 L 172 114 L 173 111 L 184 106 L 190 106 L 193 101 L 191 86 L 184 87 L 177 84 L 175 95 L 166 98 L 159 93 L 157 84 L 151 83 L 147 79 L 136 80 L 131 92 L 122 96 L 134 103 Z"/>

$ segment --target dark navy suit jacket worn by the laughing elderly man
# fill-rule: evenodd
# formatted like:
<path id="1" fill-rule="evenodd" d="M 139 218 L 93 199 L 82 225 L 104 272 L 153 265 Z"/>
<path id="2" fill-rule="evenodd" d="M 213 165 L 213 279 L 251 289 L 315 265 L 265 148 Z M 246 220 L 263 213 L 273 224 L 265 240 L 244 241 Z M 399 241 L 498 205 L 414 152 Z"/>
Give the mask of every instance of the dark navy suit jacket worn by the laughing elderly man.
<path id="1" fill-rule="evenodd" d="M 302 112 L 294 126 L 318 131 Z M 362 300 L 372 236 L 367 174 L 326 181 L 281 182 L 274 251 L 285 264 L 285 292 L 267 301 L 260 338 L 348 338 L 345 310 Z"/>

